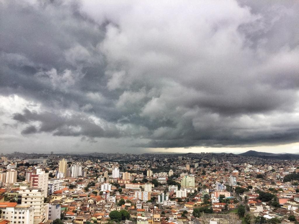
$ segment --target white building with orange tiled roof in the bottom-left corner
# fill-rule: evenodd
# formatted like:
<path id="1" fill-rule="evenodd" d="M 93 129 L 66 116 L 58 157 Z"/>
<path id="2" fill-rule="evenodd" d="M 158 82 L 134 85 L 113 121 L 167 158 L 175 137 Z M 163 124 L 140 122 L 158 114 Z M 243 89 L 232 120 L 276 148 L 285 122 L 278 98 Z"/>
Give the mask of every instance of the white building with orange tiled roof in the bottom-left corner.
<path id="1" fill-rule="evenodd" d="M 9 220 L 10 224 L 33 224 L 33 206 L 18 205 L 16 202 L 2 202 L 1 218 Z"/>

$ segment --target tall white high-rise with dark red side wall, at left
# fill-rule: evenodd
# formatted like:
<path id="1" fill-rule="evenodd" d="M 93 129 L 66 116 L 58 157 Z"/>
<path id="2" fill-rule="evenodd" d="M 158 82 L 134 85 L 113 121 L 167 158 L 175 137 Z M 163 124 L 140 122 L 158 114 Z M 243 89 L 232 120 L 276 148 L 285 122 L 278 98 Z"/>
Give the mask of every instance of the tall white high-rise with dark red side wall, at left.
<path id="1" fill-rule="evenodd" d="M 41 188 L 46 198 L 48 196 L 48 179 L 49 173 L 46 173 L 42 168 L 37 168 L 36 174 L 30 176 L 30 188 Z"/>

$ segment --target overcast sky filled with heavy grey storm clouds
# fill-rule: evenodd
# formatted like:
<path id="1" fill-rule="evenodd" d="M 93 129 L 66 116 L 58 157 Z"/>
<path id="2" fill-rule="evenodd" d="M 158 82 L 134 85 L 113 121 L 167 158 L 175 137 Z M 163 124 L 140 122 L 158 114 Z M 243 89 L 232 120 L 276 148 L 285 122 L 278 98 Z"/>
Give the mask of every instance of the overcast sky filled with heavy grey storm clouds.
<path id="1" fill-rule="evenodd" d="M 298 153 L 298 11 L 0 0 L 0 151 Z"/>

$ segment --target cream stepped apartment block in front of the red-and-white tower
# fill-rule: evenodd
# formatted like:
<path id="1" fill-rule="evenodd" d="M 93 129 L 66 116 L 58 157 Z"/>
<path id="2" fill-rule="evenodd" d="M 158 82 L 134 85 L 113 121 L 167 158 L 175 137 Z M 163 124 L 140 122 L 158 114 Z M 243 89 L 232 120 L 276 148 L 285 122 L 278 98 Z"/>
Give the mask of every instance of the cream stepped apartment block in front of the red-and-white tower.
<path id="1" fill-rule="evenodd" d="M 20 186 L 18 203 L 21 205 L 32 205 L 34 207 L 33 224 L 47 222 L 48 210 L 45 211 L 44 196 L 44 191 L 40 188 Z"/>

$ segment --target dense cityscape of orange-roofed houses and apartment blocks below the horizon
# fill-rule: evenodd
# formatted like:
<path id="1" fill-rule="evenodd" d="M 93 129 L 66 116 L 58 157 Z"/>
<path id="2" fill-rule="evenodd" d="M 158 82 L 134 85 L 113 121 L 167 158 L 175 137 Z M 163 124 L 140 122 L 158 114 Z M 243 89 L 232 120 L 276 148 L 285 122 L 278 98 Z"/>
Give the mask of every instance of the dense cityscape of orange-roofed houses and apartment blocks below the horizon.
<path id="1" fill-rule="evenodd" d="M 298 160 L 241 154 L 14 152 L 1 155 L 0 223 L 286 223 L 298 181 Z"/>

